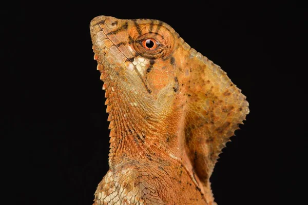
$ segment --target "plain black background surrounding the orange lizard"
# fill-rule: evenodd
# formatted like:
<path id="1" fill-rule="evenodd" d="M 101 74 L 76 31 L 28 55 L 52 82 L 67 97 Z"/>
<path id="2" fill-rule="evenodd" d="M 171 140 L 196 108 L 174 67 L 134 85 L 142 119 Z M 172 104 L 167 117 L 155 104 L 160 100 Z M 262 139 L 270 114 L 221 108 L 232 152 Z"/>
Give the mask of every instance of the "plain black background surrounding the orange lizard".
<path id="1" fill-rule="evenodd" d="M 109 130 L 89 23 L 109 15 L 163 20 L 247 96 L 251 113 L 211 177 L 219 205 L 303 204 L 307 8 L 295 1 L 213 2 L 2 7 L 1 146 L 10 200 L 92 204 L 108 170 Z"/>

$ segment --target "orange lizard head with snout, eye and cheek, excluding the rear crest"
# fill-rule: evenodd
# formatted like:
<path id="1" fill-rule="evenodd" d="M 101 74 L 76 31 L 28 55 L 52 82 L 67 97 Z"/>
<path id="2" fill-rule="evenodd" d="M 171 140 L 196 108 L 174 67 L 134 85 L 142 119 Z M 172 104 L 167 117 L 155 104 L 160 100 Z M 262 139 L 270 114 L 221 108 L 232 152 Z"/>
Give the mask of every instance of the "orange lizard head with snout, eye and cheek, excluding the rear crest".
<path id="1" fill-rule="evenodd" d="M 102 80 L 111 77 L 125 89 L 156 99 L 166 86 L 179 89 L 172 56 L 179 35 L 169 25 L 152 19 L 98 16 L 92 20 L 90 31 Z"/>

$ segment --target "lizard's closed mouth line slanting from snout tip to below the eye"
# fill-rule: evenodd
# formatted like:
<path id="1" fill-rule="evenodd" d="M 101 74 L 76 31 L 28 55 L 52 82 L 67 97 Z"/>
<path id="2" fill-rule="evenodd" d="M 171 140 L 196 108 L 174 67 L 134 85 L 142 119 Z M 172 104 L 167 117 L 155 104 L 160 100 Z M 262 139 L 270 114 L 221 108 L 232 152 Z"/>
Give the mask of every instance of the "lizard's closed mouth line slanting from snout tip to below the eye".
<path id="1" fill-rule="evenodd" d="M 103 33 L 104 33 L 104 35 L 106 36 L 105 39 L 110 40 L 110 42 L 112 43 L 112 46 L 115 46 L 115 48 L 117 48 L 117 49 L 126 57 L 126 60 L 125 60 L 125 61 L 130 61 L 130 63 L 132 64 L 133 60 L 131 60 L 130 58 L 128 58 L 128 57 L 118 48 L 118 46 L 117 46 L 117 45 L 124 45 L 124 44 L 121 42 L 120 44 L 115 45 L 115 44 L 113 43 L 113 41 L 109 38 L 110 35 L 113 35 L 115 38 L 117 38 L 117 37 L 116 37 L 115 34 L 113 33 L 112 29 L 111 29 L 110 27 L 108 27 L 107 24 L 105 24 L 105 20 L 106 20 L 106 19 L 100 20 L 100 21 L 98 22 L 97 19 L 95 19 L 96 24 L 94 24 L 93 26 L 91 25 L 91 30 L 93 31 L 93 27 L 98 25 L 98 26 L 100 27 L 100 31 L 99 31 L 99 32 L 103 32 Z M 110 29 L 110 32 L 109 32 L 109 33 L 107 33 L 107 34 L 105 33 L 105 31 L 104 31 L 103 28 L 101 27 L 101 24 L 102 24 L 102 23 L 103 23 L 108 29 Z M 95 34 L 97 34 L 97 33 L 98 33 L 98 32 L 96 32 Z M 118 38 L 117 38 L 117 39 L 118 39 Z M 118 39 L 118 40 L 119 40 L 119 39 Z M 119 41 L 120 41 L 120 40 L 119 40 Z M 111 48 L 112 46 L 110 46 L 110 48 Z M 104 48 L 102 48 L 102 49 L 106 49 L 106 48 L 107 48 L 106 45 L 104 45 Z M 130 51 L 129 51 L 129 52 L 130 52 Z M 131 53 L 131 52 L 130 52 L 130 53 Z M 134 56 L 132 53 L 131 53 L 131 55 Z M 138 56 L 140 56 L 140 55 L 136 52 L 136 56 L 134 56 L 133 59 L 136 58 L 136 57 L 138 57 Z M 95 55 L 94 55 L 94 59 L 95 59 Z M 148 94 L 151 94 L 152 91 L 151 91 L 151 89 L 150 89 L 150 85 L 149 85 L 148 80 L 146 79 L 146 77 L 142 77 L 141 73 L 139 72 L 139 70 L 136 68 L 135 65 L 132 64 L 132 66 L 133 66 L 133 68 L 134 68 L 134 71 L 138 74 L 138 76 L 139 76 L 140 79 L 142 80 L 142 82 L 143 82 L 143 84 L 144 84 L 144 86 L 145 86 L 145 88 L 146 88 Z"/>

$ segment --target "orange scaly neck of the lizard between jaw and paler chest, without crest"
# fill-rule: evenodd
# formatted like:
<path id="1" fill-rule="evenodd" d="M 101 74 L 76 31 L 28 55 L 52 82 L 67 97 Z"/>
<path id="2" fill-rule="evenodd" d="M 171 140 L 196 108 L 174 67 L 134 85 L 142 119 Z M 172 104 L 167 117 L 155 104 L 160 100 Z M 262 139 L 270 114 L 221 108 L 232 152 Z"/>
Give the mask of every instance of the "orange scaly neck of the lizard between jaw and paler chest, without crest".
<path id="1" fill-rule="evenodd" d="M 179 130 L 175 125 L 179 124 L 179 111 L 170 111 L 171 118 L 164 102 L 159 103 L 165 109 L 146 92 L 123 86 L 112 80 L 105 80 L 104 84 L 111 129 L 110 169 L 131 160 L 159 162 L 161 155 L 177 156 Z"/>

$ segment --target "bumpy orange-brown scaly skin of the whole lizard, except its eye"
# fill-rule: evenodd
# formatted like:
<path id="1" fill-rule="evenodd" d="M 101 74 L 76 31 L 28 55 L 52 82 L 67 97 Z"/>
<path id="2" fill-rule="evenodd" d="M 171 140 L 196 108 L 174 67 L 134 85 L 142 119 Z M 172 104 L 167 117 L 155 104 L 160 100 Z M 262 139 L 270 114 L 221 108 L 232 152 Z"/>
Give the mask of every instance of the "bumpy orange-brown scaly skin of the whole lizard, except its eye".
<path id="1" fill-rule="evenodd" d="M 241 90 L 159 20 L 98 16 L 90 31 L 111 130 L 94 205 L 216 204 L 209 177 L 249 112 Z"/>

